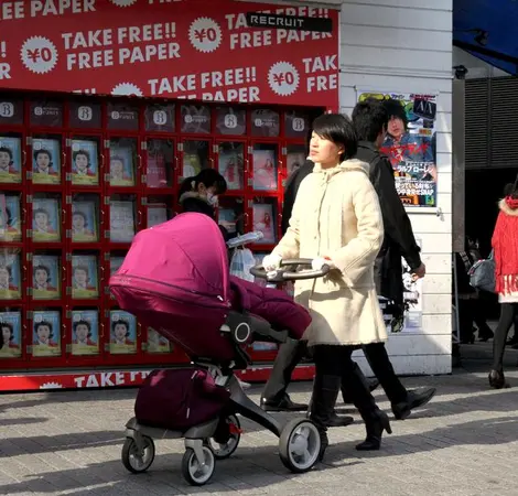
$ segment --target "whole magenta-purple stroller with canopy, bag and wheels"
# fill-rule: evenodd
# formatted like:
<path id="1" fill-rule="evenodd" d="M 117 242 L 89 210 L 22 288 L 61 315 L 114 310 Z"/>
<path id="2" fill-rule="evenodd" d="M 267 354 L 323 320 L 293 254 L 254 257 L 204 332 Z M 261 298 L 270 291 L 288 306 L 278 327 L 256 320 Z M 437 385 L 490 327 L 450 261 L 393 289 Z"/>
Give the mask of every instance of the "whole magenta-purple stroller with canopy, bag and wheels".
<path id="1" fill-rule="evenodd" d="M 259 267 L 252 273 L 272 283 L 325 276 L 325 269 L 296 271 L 307 265 L 311 260 L 287 260 L 273 276 Z M 214 220 L 182 214 L 140 231 L 109 284 L 122 310 L 181 346 L 192 360 L 153 371 L 139 389 L 122 449 L 129 471 L 151 466 L 153 438 L 184 438 L 183 475 L 193 485 L 206 484 L 215 461 L 237 449 L 237 413 L 279 438 L 279 455 L 290 471 L 313 467 L 321 446 L 314 423 L 298 418 L 282 425 L 246 396 L 234 375 L 251 364 L 249 343 L 300 339 L 310 314 L 282 291 L 230 277 Z"/>

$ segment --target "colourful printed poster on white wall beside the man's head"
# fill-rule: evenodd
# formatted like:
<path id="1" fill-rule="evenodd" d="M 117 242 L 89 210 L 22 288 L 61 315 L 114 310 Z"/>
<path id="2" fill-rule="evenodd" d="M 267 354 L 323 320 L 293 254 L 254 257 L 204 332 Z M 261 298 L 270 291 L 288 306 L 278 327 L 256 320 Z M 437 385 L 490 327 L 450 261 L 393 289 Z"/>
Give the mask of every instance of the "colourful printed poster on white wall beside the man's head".
<path id="1" fill-rule="evenodd" d="M 382 100 L 390 121 L 381 145 L 407 207 L 438 206 L 436 94 L 357 90 L 358 101 Z"/>

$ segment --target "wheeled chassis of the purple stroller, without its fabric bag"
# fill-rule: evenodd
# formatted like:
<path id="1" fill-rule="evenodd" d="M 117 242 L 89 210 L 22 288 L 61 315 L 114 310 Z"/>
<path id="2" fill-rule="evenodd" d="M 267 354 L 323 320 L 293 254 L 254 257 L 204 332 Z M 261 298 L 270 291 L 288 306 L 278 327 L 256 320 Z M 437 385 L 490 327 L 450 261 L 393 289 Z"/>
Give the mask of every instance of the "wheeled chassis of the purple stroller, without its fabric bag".
<path id="1" fill-rule="evenodd" d="M 248 342 L 252 334 L 261 341 L 284 343 L 290 338 L 288 332 L 276 331 L 262 319 L 237 312 L 229 313 L 220 331 L 228 334 L 234 343 L 236 360 L 222 367 L 209 358 L 198 357 L 193 358 L 192 365 L 212 370 L 216 376 L 216 384 L 230 391 L 229 406 L 223 419 L 217 417 L 185 431 L 176 431 L 143 425 L 134 417 L 131 418 L 126 424 L 126 441 L 122 448 L 122 463 L 130 472 L 145 472 L 151 466 L 155 453 L 153 439 L 184 438 L 183 476 L 192 485 L 206 484 L 214 474 L 215 461 L 229 457 L 239 444 L 240 424 L 236 413 L 268 429 L 279 438 L 279 456 L 291 472 L 307 472 L 317 462 L 321 436 L 316 425 L 305 417 L 294 418 L 283 425 L 248 398 L 234 374 L 234 370 L 245 369 L 251 363 L 239 344 Z M 213 438 L 222 420 L 226 420 L 234 428 L 234 432 L 230 429 L 227 443 L 214 449 Z"/>

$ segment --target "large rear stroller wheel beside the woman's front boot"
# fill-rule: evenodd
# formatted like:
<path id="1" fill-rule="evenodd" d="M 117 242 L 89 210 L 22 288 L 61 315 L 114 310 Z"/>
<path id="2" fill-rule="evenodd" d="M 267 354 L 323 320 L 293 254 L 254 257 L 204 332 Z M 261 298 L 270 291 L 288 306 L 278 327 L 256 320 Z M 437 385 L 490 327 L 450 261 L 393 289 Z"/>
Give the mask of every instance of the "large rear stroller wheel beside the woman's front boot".
<path id="1" fill-rule="evenodd" d="M 319 459 L 321 436 L 316 425 L 307 419 L 290 420 L 279 438 L 279 456 L 294 474 L 313 468 Z"/>

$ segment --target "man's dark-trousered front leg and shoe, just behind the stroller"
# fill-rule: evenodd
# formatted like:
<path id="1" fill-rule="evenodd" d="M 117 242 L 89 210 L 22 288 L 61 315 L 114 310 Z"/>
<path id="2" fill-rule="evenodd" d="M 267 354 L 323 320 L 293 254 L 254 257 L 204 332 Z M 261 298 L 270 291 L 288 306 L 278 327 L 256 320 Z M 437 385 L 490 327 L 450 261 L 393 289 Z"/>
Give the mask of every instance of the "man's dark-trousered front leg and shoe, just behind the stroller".
<path id="1" fill-rule="evenodd" d="M 266 411 L 302 411 L 307 405 L 294 403 L 287 393 L 291 375 L 301 358 L 307 353 L 304 341 L 288 339 L 277 353 L 270 378 L 261 396 L 261 407 Z"/>

